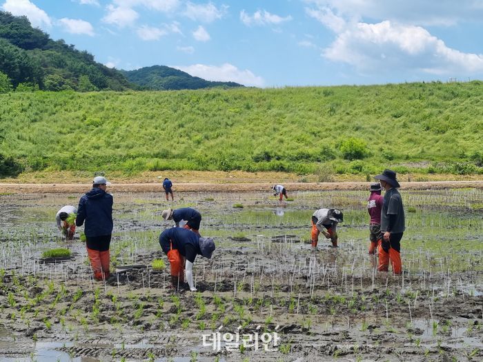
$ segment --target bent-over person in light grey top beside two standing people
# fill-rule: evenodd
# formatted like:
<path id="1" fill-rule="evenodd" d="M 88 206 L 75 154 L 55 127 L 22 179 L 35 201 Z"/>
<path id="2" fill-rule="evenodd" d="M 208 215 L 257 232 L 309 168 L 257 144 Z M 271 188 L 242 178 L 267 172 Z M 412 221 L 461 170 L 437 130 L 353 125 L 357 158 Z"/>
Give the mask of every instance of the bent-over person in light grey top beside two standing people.
<path id="1" fill-rule="evenodd" d="M 319 209 L 312 215 L 312 249 L 317 248 L 319 233 L 331 239 L 333 248 L 337 248 L 337 224 L 344 221 L 344 214 L 338 209 Z"/>

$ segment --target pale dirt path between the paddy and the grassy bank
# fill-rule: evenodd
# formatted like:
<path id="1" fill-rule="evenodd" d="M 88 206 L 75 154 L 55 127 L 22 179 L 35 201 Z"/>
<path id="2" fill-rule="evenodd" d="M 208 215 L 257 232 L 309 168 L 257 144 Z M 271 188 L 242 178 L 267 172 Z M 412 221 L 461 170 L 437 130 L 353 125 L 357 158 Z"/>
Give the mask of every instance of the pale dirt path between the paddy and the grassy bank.
<path id="1" fill-rule="evenodd" d="M 309 190 L 367 190 L 369 182 L 289 182 L 284 186 L 290 191 Z M 250 192 L 270 190 L 273 183 L 176 183 L 175 192 Z M 90 185 L 84 183 L 0 183 L 0 193 L 66 193 L 85 192 Z M 401 182 L 406 190 L 445 188 L 483 188 L 483 181 L 426 181 Z M 112 192 L 162 192 L 161 183 L 112 183 Z"/>

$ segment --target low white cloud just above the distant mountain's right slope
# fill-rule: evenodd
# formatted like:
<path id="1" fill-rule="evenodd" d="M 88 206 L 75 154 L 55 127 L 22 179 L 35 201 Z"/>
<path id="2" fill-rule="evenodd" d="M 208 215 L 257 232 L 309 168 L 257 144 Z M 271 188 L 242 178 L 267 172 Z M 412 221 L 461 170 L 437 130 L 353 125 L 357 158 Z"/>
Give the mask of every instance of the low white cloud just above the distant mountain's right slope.
<path id="1" fill-rule="evenodd" d="M 230 63 L 221 66 L 206 66 L 204 64 L 194 64 L 193 66 L 173 66 L 176 68 L 208 81 L 234 81 L 244 86 L 264 87 L 265 81 L 262 77 L 257 77 L 250 70 L 239 70 Z"/>

